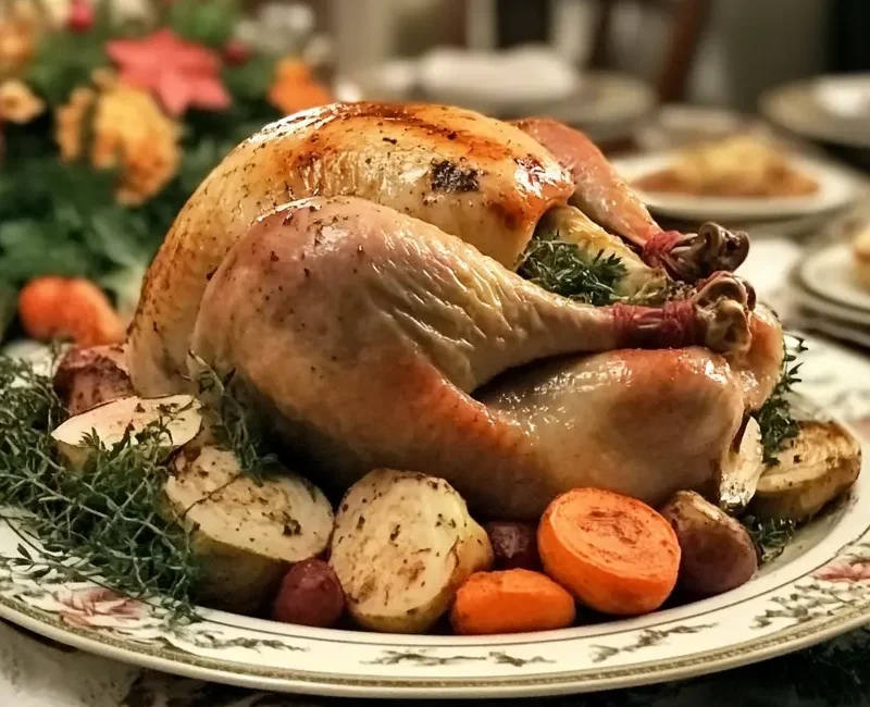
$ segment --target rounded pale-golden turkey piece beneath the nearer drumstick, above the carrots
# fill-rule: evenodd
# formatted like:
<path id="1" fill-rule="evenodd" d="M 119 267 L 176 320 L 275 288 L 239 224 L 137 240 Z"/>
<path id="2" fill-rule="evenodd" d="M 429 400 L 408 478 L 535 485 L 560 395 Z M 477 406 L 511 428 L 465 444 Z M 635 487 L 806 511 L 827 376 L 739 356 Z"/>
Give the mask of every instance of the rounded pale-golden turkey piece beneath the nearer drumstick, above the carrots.
<path id="1" fill-rule="evenodd" d="M 678 491 L 714 493 L 744 414 L 729 364 L 701 348 L 546 362 L 475 397 L 527 432 L 555 485 L 606 488 L 654 507 Z"/>

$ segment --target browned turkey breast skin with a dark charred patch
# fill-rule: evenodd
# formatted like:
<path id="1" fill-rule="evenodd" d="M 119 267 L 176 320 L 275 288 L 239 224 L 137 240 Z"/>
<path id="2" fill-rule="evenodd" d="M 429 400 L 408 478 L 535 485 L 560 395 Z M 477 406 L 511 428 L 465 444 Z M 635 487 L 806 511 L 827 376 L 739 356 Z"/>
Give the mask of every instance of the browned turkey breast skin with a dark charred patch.
<path id="1" fill-rule="evenodd" d="M 152 263 L 129 339 L 144 395 L 183 387 L 211 273 L 263 214 L 311 196 L 356 196 L 438 226 L 514 266 L 571 178 L 537 141 L 458 108 L 345 103 L 297 113 L 237 147 L 187 202 Z"/>

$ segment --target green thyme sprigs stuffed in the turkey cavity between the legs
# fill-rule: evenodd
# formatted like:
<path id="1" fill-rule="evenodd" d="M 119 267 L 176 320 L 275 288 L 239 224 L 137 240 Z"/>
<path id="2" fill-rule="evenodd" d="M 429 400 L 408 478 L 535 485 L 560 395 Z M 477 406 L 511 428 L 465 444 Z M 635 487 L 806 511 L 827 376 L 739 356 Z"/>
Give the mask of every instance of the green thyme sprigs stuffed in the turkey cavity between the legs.
<path id="1" fill-rule="evenodd" d="M 538 231 L 518 273 L 556 295 L 600 307 L 618 299 L 614 288 L 626 271 L 616 255 L 589 259 L 575 244 L 559 240 L 558 232 Z"/>

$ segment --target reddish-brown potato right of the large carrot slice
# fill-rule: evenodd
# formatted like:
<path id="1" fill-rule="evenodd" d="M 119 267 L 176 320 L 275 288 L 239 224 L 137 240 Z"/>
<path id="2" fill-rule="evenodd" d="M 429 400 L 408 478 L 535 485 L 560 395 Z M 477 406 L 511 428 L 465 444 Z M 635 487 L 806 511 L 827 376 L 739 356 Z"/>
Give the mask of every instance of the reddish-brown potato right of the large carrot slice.
<path id="1" fill-rule="evenodd" d="M 693 597 L 722 594 L 748 582 L 758 555 L 746 529 L 692 491 L 679 492 L 661 509 L 682 551 L 678 586 Z"/>

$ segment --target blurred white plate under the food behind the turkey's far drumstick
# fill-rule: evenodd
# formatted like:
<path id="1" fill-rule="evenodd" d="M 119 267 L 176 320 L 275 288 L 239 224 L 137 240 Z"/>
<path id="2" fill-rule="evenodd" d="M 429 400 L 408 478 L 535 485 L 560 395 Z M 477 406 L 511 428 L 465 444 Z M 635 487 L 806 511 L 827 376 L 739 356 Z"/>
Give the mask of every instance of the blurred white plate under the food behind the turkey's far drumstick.
<path id="1" fill-rule="evenodd" d="M 629 182 L 668 168 L 676 152 L 639 156 L 614 160 L 613 166 Z M 675 219 L 693 221 L 742 219 L 785 219 L 823 213 L 842 208 L 857 197 L 852 173 L 812 158 L 792 158 L 796 169 L 819 183 L 819 191 L 806 197 L 732 198 L 654 194 L 636 189 L 652 211 Z"/>

